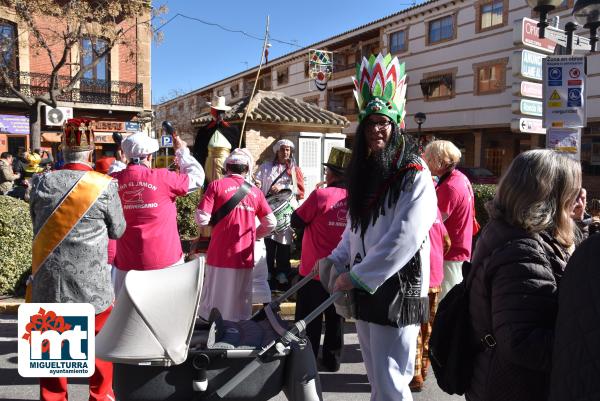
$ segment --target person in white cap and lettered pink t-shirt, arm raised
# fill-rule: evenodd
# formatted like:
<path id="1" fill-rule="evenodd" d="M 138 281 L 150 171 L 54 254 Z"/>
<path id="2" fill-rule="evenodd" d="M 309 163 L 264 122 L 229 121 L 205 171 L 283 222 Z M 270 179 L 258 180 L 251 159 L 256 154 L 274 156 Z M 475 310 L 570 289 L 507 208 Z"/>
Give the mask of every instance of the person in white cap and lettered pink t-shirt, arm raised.
<path id="1" fill-rule="evenodd" d="M 115 293 L 129 270 L 156 270 L 183 263 L 175 200 L 202 186 L 204 170 L 183 140 L 174 136 L 173 142 L 179 173 L 151 168 L 158 142 L 143 132 L 121 143 L 129 162 L 126 167 L 122 169 L 124 164 L 116 161 L 109 170 L 119 181 L 127 222 L 125 234 L 117 242 Z"/>

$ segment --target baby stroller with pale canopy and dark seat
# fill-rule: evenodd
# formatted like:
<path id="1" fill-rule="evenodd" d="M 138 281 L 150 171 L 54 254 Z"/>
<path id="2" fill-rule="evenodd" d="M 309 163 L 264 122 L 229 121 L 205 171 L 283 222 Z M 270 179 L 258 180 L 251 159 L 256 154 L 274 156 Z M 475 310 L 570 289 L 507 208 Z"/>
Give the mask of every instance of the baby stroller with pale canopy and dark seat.
<path id="1" fill-rule="evenodd" d="M 279 305 L 309 275 L 250 320 L 223 320 L 216 309 L 197 318 L 204 258 L 127 274 L 115 307 L 96 337 L 96 356 L 114 363 L 120 401 L 268 400 L 282 390 L 292 401 L 322 400 L 306 324 L 289 325 Z"/>

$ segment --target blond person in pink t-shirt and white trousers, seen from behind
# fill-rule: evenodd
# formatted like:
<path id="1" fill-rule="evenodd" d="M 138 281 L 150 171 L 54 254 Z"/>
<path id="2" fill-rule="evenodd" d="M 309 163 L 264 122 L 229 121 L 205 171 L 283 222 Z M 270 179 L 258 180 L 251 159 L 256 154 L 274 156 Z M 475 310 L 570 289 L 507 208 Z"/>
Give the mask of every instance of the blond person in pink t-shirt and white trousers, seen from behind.
<path id="1" fill-rule="evenodd" d="M 444 256 L 440 300 L 462 281 L 462 264 L 471 259 L 475 198 L 469 179 L 455 168 L 460 158 L 460 150 L 450 141 L 433 141 L 425 148 L 427 166 L 439 177 L 438 208 L 451 241 L 450 250 Z"/>

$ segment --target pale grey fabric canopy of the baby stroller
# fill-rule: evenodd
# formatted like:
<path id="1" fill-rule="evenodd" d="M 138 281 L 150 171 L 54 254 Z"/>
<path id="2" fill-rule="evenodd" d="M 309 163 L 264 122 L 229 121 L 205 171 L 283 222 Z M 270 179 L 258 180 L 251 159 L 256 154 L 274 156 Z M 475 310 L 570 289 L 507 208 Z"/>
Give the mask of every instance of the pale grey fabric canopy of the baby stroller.
<path id="1" fill-rule="evenodd" d="M 183 363 L 203 278 L 204 258 L 160 270 L 131 270 L 96 336 L 96 357 L 127 364 Z"/>

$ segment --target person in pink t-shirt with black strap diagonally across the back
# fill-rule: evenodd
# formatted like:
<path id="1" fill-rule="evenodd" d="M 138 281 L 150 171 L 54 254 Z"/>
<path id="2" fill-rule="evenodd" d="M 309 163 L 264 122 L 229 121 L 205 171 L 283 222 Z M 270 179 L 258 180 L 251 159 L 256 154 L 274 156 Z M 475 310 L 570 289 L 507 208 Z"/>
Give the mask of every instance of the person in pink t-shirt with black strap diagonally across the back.
<path id="1" fill-rule="evenodd" d="M 246 149 L 231 152 L 225 159 L 225 177 L 208 185 L 196 211 L 198 225 L 213 226 L 200 299 L 199 314 L 205 319 L 213 308 L 231 321 L 247 320 L 252 314 L 254 242 L 277 225 L 261 190 L 246 182 L 252 165 L 252 156 Z M 223 205 L 244 183 L 249 186 L 248 192 L 223 215 Z M 213 216 L 220 218 L 211 221 Z"/>

